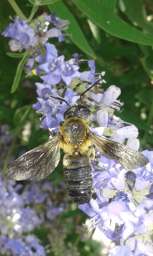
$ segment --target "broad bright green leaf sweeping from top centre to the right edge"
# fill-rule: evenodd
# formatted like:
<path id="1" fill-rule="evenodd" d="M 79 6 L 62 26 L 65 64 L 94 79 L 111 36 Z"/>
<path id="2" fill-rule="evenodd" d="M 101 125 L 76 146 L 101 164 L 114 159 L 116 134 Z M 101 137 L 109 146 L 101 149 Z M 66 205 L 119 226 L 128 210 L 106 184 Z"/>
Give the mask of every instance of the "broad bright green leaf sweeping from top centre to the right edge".
<path id="1" fill-rule="evenodd" d="M 119 38 L 145 44 L 153 45 L 153 38 L 141 31 L 131 27 L 125 21 L 117 17 L 114 12 L 108 9 L 98 0 L 71 0 L 85 13 L 95 24 L 106 32 Z"/>

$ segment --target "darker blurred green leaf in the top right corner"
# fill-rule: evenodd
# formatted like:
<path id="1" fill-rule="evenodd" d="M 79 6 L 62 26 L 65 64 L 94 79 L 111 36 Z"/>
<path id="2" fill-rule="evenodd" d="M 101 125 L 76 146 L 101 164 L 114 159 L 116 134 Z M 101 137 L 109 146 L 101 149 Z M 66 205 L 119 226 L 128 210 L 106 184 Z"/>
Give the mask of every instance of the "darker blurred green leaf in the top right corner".
<path id="1" fill-rule="evenodd" d="M 140 0 L 120 0 L 121 11 L 124 12 L 135 25 L 142 28 L 147 34 L 153 36 L 153 24 L 147 20 L 144 4 Z"/>

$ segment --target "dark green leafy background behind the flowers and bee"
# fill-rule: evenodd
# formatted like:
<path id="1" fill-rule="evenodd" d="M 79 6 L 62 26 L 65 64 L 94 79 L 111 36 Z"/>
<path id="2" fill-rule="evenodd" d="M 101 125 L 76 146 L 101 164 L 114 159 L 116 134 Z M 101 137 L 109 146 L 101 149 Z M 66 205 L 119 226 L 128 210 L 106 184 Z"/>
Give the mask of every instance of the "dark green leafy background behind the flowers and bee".
<path id="1" fill-rule="evenodd" d="M 40 4 L 34 17 L 43 12 L 49 14 L 56 11 L 57 17 L 70 21 L 66 33 L 72 34 L 72 37 L 65 37 L 62 43 L 56 38 L 50 38 L 48 42 L 55 44 L 58 54 L 64 54 L 66 60 L 75 52 L 82 54 L 84 59 L 95 59 L 96 71 L 106 71 L 104 79 L 107 83 L 103 84 L 104 90 L 112 84 L 121 89 L 119 99 L 124 102 L 124 110 L 116 113 L 116 116 L 135 124 L 139 129 L 140 151 L 152 150 L 153 1 L 58 0 L 52 4 L 49 0 L 17 0 L 16 3 L 27 18 L 33 4 Z M 10 23 L 9 16 L 13 17 L 16 13 L 5 0 L 0 1 L 0 10 L 2 33 Z M 23 71 L 17 90 L 11 93 L 20 59 L 6 55 L 6 52 L 10 52 L 9 40 L 8 37 L 0 36 L 0 124 L 8 124 L 8 134 L 14 134 L 14 137 L 9 151 L 1 159 L 4 163 L 2 172 L 7 167 L 11 155 L 17 157 L 21 149 L 30 150 L 48 140 L 48 131 L 39 128 L 40 114 L 32 109 L 32 104 L 37 101 L 35 82 L 42 80 L 37 76 L 25 76 Z M 79 71 L 88 70 L 84 65 L 82 64 Z M 30 124 L 30 130 L 25 134 L 23 131 L 26 130 L 27 124 Z M 1 149 L 3 152 L 2 145 Z M 56 186 L 63 179 L 60 161 L 60 165 L 47 180 L 53 180 Z M 23 184 L 25 182 L 23 181 Z M 65 190 L 63 198 L 67 196 L 66 193 Z M 70 243 L 71 250 L 76 250 L 81 255 L 99 255 L 100 245 L 95 245 L 91 236 L 86 235 L 86 229 L 81 227 L 85 219 L 85 214 L 69 202 L 68 208 L 57 217 L 59 226 L 55 230 L 51 231 L 42 226 L 32 233 L 40 238 L 42 245 L 49 243 L 52 251 L 47 255 L 65 255 L 62 248 L 61 251 L 55 250 L 54 247 L 59 246 L 58 241 L 63 241 L 63 248 L 68 248 Z M 64 225 L 65 231 L 60 232 L 59 227 L 63 228 Z M 48 234 L 54 239 L 48 240 Z M 83 234 L 85 239 L 81 240 Z"/>

